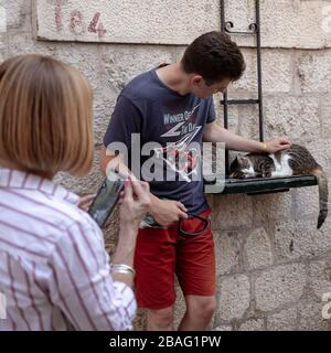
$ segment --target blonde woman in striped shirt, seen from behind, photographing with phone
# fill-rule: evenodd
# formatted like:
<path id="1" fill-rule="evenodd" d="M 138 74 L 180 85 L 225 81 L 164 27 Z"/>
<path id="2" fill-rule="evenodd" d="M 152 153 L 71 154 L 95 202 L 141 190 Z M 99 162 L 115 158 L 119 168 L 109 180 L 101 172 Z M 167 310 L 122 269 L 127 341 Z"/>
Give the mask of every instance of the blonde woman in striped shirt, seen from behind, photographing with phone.
<path id="1" fill-rule="evenodd" d="M 92 168 L 92 90 L 73 67 L 21 55 L 0 66 L 0 330 L 130 330 L 136 236 L 148 184 L 126 182 L 113 264 L 79 197 L 52 182 Z"/>

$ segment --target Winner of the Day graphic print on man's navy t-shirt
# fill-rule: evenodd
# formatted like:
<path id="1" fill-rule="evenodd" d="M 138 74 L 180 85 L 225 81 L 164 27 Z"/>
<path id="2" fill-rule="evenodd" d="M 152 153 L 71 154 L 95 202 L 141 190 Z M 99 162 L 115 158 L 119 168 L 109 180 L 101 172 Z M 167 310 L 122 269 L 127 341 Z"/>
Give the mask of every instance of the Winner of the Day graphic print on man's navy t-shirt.
<path id="1" fill-rule="evenodd" d="M 169 130 L 161 137 L 178 137 L 179 140 L 168 142 L 167 147 L 154 149 L 156 157 L 161 159 L 172 171 L 179 173 L 181 179 L 186 182 L 190 182 L 192 175 L 197 173 L 201 160 L 200 149 L 190 146 L 196 133 L 202 129 L 202 126 L 196 126 L 195 122 L 195 113 L 200 105 L 196 105 L 191 111 L 185 110 L 175 115 L 164 114 L 164 128 Z"/>

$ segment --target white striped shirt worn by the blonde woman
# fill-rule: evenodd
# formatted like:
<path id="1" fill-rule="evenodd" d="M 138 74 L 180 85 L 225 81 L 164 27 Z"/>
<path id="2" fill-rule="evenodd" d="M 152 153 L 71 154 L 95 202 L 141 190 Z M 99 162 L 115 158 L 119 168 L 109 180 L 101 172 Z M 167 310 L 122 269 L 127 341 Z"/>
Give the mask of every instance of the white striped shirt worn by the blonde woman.
<path id="1" fill-rule="evenodd" d="M 103 233 L 78 200 L 0 169 L 0 331 L 132 329 L 134 292 L 111 279 Z"/>

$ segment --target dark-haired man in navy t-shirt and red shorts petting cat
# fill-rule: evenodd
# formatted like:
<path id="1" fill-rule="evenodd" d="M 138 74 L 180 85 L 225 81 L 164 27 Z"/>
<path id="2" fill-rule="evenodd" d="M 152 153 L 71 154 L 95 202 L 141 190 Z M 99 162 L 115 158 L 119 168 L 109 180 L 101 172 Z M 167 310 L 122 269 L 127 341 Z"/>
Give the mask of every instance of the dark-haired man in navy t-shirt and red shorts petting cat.
<path id="1" fill-rule="evenodd" d="M 288 148 L 290 145 L 284 138 L 263 143 L 239 137 L 215 122 L 213 94 L 224 93 L 244 69 L 243 55 L 229 36 L 210 32 L 189 45 L 179 63 L 161 65 L 134 78 L 119 95 L 104 138 L 104 172 L 109 161 L 116 161 L 125 171 L 121 157 L 107 152 L 106 147 L 124 142 L 130 157 L 131 133 L 140 133 L 141 145 L 156 141 L 174 156 L 177 147 L 182 151 L 188 143 L 202 140 L 225 142 L 227 149 L 248 152 Z M 172 142 L 172 148 L 166 148 L 167 142 Z M 189 159 L 190 153 L 186 156 Z M 206 229 L 199 236 L 183 237 L 177 222 L 188 218 L 188 213 L 206 218 L 211 210 L 203 182 L 190 180 L 190 168 L 178 168 L 175 158 L 172 164 L 169 157 L 166 160 L 161 154 L 160 159 L 181 180 L 150 182 L 150 215 L 156 227 L 141 228 L 138 235 L 135 256 L 138 304 L 147 309 L 148 330 L 172 330 L 175 271 L 186 302 L 179 330 L 206 330 L 216 307 L 213 235 Z M 193 163 L 191 171 L 201 165 Z M 183 221 L 191 229 L 196 222 L 192 217 Z"/>

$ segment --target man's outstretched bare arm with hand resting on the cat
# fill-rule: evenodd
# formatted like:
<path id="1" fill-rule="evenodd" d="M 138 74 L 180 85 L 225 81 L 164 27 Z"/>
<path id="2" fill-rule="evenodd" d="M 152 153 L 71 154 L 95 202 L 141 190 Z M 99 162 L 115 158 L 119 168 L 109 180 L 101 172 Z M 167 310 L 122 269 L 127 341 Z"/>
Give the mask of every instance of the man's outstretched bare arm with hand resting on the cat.
<path id="1" fill-rule="evenodd" d="M 245 152 L 275 153 L 288 149 L 290 142 L 286 138 L 278 138 L 268 142 L 259 142 L 238 136 L 213 121 L 204 129 L 203 140 L 206 142 L 224 142 L 226 149 Z"/>

